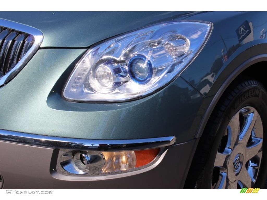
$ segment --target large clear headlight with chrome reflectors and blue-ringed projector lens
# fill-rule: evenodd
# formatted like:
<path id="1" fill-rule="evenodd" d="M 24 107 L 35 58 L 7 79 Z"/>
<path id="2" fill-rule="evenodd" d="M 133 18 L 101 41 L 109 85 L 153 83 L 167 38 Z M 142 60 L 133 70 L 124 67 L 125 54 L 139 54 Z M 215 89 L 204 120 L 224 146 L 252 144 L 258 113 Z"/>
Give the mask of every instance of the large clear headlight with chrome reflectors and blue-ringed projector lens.
<path id="1" fill-rule="evenodd" d="M 168 22 L 98 44 L 77 63 L 63 95 L 77 101 L 123 101 L 148 95 L 181 73 L 210 29 L 210 23 Z"/>

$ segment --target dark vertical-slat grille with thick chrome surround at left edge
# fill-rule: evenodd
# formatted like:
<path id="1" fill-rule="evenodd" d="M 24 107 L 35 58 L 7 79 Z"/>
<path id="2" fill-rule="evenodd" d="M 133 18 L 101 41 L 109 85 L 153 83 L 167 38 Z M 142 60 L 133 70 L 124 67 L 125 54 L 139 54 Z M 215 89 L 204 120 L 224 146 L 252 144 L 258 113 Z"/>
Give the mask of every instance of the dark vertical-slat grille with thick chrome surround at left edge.
<path id="1" fill-rule="evenodd" d="M 41 45 L 41 31 L 0 19 L 0 86 L 10 81 Z"/>

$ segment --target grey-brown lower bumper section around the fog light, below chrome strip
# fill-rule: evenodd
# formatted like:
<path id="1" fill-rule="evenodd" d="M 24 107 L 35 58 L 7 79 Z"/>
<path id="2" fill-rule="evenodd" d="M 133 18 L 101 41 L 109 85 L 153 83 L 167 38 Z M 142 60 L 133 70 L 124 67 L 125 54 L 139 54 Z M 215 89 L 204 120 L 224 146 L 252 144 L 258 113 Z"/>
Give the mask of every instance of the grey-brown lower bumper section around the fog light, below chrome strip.
<path id="1" fill-rule="evenodd" d="M 14 142 L 18 141 L 14 139 Z M 197 142 L 198 139 L 194 139 L 169 146 L 162 159 L 155 166 L 143 169 L 142 173 L 76 177 L 57 172 L 57 148 L 0 141 L 3 189 L 183 188 Z"/>

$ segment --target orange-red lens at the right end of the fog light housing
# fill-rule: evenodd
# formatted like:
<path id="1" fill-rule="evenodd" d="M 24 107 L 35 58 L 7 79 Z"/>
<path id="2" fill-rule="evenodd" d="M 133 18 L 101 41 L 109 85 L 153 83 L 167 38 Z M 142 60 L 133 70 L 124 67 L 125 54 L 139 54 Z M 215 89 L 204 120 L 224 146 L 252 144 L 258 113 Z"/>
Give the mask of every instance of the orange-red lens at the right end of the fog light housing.
<path id="1" fill-rule="evenodd" d="M 146 149 L 134 151 L 136 156 L 136 165 L 135 167 L 141 167 L 152 162 L 156 156 L 159 154 L 160 149 Z"/>

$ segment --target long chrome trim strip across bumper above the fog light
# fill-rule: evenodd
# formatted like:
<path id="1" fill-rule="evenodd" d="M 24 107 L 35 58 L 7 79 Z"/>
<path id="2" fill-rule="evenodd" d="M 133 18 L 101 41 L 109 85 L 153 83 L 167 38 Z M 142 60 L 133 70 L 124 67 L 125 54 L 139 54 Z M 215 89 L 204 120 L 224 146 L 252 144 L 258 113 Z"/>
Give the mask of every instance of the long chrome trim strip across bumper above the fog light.
<path id="1" fill-rule="evenodd" d="M 175 143 L 175 137 L 160 137 L 146 139 L 126 139 L 126 140 L 94 140 L 53 137 L 48 135 L 36 135 L 20 133 L 0 129 L 0 140 L 6 142 L 20 143 L 24 145 L 78 149 L 78 150 L 135 150 L 150 149 L 163 146 L 170 146 Z"/>

